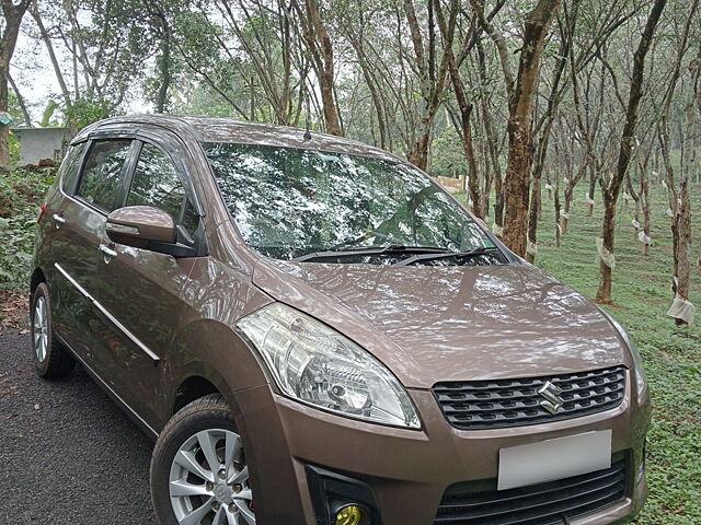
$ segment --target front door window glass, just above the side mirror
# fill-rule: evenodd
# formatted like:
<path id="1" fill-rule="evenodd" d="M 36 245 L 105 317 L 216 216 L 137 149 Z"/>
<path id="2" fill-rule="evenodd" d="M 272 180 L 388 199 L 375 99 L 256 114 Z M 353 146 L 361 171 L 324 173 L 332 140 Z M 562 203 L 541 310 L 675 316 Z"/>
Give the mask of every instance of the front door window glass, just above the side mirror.
<path id="1" fill-rule="evenodd" d="M 173 161 L 163 150 L 149 143 L 141 148 L 127 206 L 152 206 L 166 211 L 191 235 L 199 221 Z"/>

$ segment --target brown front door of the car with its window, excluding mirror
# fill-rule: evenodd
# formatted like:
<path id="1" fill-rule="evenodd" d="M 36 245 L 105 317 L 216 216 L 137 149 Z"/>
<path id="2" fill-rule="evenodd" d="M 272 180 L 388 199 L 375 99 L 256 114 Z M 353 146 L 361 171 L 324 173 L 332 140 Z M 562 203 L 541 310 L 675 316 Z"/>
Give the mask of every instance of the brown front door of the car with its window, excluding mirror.
<path id="1" fill-rule="evenodd" d="M 125 183 L 125 206 L 151 206 L 173 217 L 179 243 L 202 253 L 200 217 L 177 142 L 164 132 L 137 141 Z M 97 301 L 118 323 L 104 334 L 104 358 L 119 396 L 152 427 L 162 424 L 164 364 L 182 317 L 181 292 L 192 258 L 107 243 L 97 265 Z M 203 241 L 204 242 L 204 241 Z"/>

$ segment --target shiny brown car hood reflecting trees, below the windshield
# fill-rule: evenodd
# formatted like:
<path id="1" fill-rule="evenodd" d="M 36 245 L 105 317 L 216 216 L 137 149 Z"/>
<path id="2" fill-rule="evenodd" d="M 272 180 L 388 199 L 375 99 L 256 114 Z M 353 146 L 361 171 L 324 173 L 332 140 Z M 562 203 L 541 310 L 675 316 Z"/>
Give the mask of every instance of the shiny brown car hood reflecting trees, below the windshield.
<path id="1" fill-rule="evenodd" d="M 355 340 L 407 387 L 630 365 L 624 342 L 595 305 L 527 264 L 262 259 L 253 282 Z"/>

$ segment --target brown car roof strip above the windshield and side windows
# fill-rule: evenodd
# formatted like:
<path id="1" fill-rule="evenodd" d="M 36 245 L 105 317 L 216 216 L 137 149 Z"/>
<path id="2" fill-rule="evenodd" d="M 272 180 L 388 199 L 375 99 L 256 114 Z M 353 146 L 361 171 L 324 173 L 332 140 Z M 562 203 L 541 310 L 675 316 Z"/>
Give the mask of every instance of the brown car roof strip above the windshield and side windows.
<path id="1" fill-rule="evenodd" d="M 80 137 L 102 128 L 114 130 L 136 127 L 140 124 L 159 126 L 175 132 L 182 139 L 197 142 L 223 142 L 240 144 L 263 144 L 278 148 L 298 148 L 334 153 L 347 153 L 363 156 L 381 158 L 392 162 L 406 162 L 392 153 L 333 135 L 311 131 L 311 138 L 304 139 L 306 130 L 289 126 L 249 122 L 234 118 L 195 117 L 179 115 L 128 115 L 100 120 L 85 128 Z"/>

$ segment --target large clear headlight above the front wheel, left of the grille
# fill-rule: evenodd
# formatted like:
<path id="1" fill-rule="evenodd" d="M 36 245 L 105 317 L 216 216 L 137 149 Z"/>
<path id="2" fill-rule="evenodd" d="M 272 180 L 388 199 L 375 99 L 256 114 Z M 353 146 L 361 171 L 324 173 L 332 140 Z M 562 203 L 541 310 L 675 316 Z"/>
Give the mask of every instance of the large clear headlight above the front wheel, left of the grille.
<path id="1" fill-rule="evenodd" d="M 237 326 L 292 399 L 376 423 L 421 428 L 409 394 L 390 371 L 320 322 L 274 303 Z"/>

